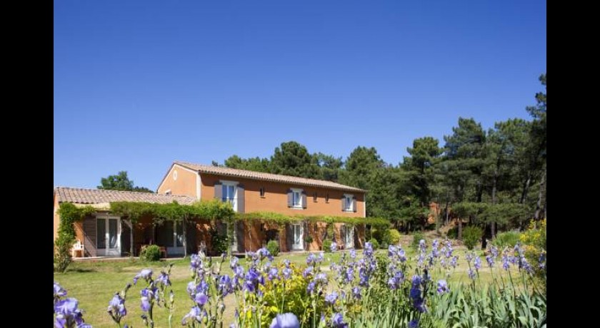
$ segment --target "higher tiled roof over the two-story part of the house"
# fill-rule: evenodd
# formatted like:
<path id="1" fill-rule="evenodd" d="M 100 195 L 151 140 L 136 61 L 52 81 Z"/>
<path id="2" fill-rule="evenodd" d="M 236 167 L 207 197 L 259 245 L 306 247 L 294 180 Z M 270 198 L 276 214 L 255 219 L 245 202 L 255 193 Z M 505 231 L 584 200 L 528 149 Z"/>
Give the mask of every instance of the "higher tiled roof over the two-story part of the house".
<path id="1" fill-rule="evenodd" d="M 191 170 L 196 170 L 199 173 L 226 175 L 229 177 L 239 177 L 239 178 L 246 178 L 246 179 L 253 179 L 253 180 L 273 181 L 276 183 L 289 183 L 291 185 L 309 185 L 311 187 L 357 191 L 359 193 L 365 192 L 365 190 L 362 190 L 359 188 L 350 187 L 349 185 L 341 185 L 339 183 L 334 183 L 334 182 L 326 181 L 326 180 L 299 178 L 299 177 L 294 177 L 291 175 L 262 173 L 262 172 L 255 172 L 255 171 L 249 171 L 249 170 L 239 170 L 236 168 L 223 168 L 220 166 L 181 162 L 179 160 L 176 160 L 174 162 L 174 164 L 181 165 L 181 166 L 183 166 L 185 168 L 189 168 Z"/>

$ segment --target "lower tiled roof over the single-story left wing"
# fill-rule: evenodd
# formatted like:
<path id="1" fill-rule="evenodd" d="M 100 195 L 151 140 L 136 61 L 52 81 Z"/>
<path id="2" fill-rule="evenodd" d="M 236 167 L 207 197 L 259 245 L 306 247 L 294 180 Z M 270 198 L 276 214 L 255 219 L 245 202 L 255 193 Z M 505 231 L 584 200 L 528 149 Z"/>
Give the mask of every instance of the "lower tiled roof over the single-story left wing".
<path id="1" fill-rule="evenodd" d="M 189 205 L 196 201 L 195 198 L 189 196 L 69 187 L 56 187 L 54 188 L 54 193 L 58 195 L 59 203 L 99 204 L 111 202 L 146 202 L 165 204 L 172 203 L 176 200 L 179 204 Z"/>

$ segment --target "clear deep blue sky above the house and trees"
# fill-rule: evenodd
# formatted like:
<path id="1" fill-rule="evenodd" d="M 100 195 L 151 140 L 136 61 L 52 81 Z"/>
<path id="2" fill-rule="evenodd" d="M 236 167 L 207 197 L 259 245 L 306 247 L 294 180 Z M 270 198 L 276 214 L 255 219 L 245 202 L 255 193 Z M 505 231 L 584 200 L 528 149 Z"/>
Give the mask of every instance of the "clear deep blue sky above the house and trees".
<path id="1" fill-rule="evenodd" d="M 527 118 L 546 1 L 54 1 L 54 185 Z"/>

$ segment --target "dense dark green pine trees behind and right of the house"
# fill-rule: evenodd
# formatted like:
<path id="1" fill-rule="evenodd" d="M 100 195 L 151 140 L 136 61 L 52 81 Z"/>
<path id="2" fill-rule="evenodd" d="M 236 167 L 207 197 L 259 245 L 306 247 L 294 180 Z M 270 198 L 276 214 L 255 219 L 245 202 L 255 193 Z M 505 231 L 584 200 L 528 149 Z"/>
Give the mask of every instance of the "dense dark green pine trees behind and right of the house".
<path id="1" fill-rule="evenodd" d="M 399 165 L 384 162 L 374 147 L 356 147 L 344 159 L 310 153 L 296 141 L 281 143 L 270 158 L 232 155 L 213 165 L 369 190 L 366 215 L 385 217 L 405 231 L 424 227 L 429 205 L 436 203 L 437 222 L 461 217 L 494 237 L 499 228 L 521 228 L 531 218 L 546 217 L 545 73 L 539 81 L 544 91 L 526 107 L 529 121 L 511 118 L 484 130 L 474 118 L 459 118 L 444 145 L 431 136 L 416 138 Z"/>

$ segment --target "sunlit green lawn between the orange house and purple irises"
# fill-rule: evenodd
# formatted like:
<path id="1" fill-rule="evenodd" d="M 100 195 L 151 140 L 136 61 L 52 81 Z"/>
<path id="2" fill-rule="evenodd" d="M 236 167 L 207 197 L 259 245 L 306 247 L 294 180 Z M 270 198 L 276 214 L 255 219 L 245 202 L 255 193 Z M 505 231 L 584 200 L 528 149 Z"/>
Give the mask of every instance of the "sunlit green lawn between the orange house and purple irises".
<path id="1" fill-rule="evenodd" d="M 407 256 L 414 258 L 414 250 L 410 247 L 405 247 Z M 378 252 L 386 252 L 385 250 L 379 250 Z M 456 247 L 455 254 L 459 255 L 459 267 L 456 268 L 455 272 L 447 280 L 449 283 L 470 283 L 467 275 L 468 267 L 464 260 L 464 247 Z M 279 263 L 283 260 L 290 260 L 296 265 L 306 265 L 306 256 L 308 254 L 281 254 L 276 257 L 275 262 Z M 478 255 L 481 255 L 479 252 Z M 325 255 L 325 258 L 331 258 L 332 261 L 339 260 L 340 252 L 333 254 L 329 253 Z M 359 256 L 361 252 L 359 251 Z M 485 260 L 483 265 L 486 266 Z M 136 275 L 141 269 L 150 268 L 154 271 L 153 277 L 157 277 L 161 268 L 164 267 L 168 262 L 174 263 L 171 270 L 171 283 L 173 284 L 173 290 L 175 293 L 175 312 L 173 316 L 173 327 L 181 326 L 181 318 L 189 312 L 192 306 L 191 299 L 187 296 L 186 286 L 191 281 L 189 275 L 189 258 L 178 259 L 178 260 L 167 260 L 161 262 L 141 262 L 139 260 L 121 260 L 121 261 L 101 261 L 101 262 L 74 262 L 69 267 L 66 273 L 54 273 L 54 281 L 58 282 L 62 287 L 68 291 L 69 297 L 75 297 L 79 300 L 79 308 L 84 310 L 84 319 L 94 327 L 117 327 L 112 321 L 109 314 L 106 313 L 109 300 L 112 298 L 115 292 L 119 292 L 128 283 L 132 282 L 134 275 Z M 244 262 L 242 260 L 241 262 Z M 496 264 L 497 266 L 497 264 Z M 329 271 L 329 265 L 323 265 L 324 271 Z M 231 275 L 231 270 L 228 265 L 224 265 L 223 273 Z M 501 272 L 495 269 L 496 272 Z M 494 272 L 494 275 L 497 273 Z M 432 272 L 434 279 L 441 279 L 443 272 Z M 479 272 L 480 282 L 489 283 L 492 280 L 489 268 L 482 268 Z M 140 315 L 142 314 L 140 309 L 140 297 L 139 291 L 144 286 L 144 280 L 140 280 L 141 285 L 131 287 L 127 294 L 126 309 L 127 316 L 123 323 L 127 323 L 134 327 L 141 327 Z M 225 310 L 225 327 L 229 327 L 229 323 L 233 319 L 234 309 L 236 307 L 235 298 L 233 295 L 226 297 L 226 310 Z M 155 327 L 168 327 L 167 324 L 167 312 L 163 308 L 154 309 L 154 321 L 156 322 Z"/>

